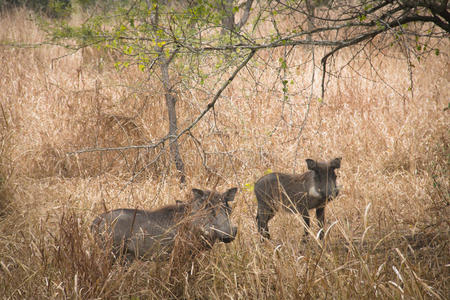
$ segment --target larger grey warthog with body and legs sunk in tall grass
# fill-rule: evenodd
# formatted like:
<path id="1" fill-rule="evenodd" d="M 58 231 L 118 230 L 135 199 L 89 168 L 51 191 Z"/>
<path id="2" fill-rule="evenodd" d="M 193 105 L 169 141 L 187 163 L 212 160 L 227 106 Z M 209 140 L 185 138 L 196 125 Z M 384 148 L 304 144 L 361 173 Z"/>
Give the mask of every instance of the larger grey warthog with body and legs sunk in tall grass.
<path id="1" fill-rule="evenodd" d="M 112 210 L 99 215 L 91 230 L 100 245 L 112 247 L 115 258 L 123 255 L 127 261 L 167 259 L 176 238 L 184 239 L 188 247 L 209 249 L 217 240 L 229 243 L 236 237 L 228 203 L 236 191 L 231 188 L 221 194 L 192 189 L 193 198 L 187 203 L 177 201 L 153 211 Z"/>

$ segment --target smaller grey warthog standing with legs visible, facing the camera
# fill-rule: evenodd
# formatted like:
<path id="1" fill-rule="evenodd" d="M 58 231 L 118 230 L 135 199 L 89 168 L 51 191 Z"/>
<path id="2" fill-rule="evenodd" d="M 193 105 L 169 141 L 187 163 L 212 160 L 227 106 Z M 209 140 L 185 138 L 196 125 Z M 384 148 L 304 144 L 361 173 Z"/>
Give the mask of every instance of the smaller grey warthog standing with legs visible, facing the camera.
<path id="1" fill-rule="evenodd" d="M 329 162 L 307 159 L 306 164 L 310 171 L 301 175 L 271 173 L 255 183 L 254 190 L 258 200 L 256 221 L 263 237 L 270 238 L 268 222 L 283 207 L 288 211 L 301 213 L 308 227 L 308 210 L 315 208 L 322 228 L 320 238 L 323 238 L 325 205 L 339 193 L 334 170 L 341 166 L 341 158 Z M 305 230 L 305 236 L 307 234 L 308 230 Z"/>

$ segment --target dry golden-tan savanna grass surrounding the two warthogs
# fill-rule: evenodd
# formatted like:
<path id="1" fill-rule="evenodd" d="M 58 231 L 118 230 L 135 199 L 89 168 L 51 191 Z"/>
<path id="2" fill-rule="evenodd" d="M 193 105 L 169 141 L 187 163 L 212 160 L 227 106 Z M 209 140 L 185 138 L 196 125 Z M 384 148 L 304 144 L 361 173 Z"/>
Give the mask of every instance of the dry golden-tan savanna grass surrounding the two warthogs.
<path id="1" fill-rule="evenodd" d="M 3 14 L 0 40 L 43 40 L 28 14 Z M 163 137 L 160 83 L 133 66 L 117 70 L 107 51 L 0 47 L 0 297 L 448 299 L 448 41 L 440 49 L 411 69 L 396 47 L 341 69 L 347 50 L 320 101 L 309 101 L 310 49 L 291 56 L 286 101 L 274 63 L 282 51 L 259 52 L 267 64 L 244 68 L 214 113 L 180 139 L 180 188 L 163 147 L 70 154 Z M 210 101 L 195 89 L 178 97 L 179 128 Z M 270 223 L 273 240 L 261 242 L 252 183 L 270 170 L 304 172 L 306 158 L 337 156 L 343 187 L 327 206 L 324 243 L 302 243 L 301 217 L 286 213 Z M 194 261 L 111 265 L 89 234 L 105 209 L 150 209 L 190 197 L 193 187 L 232 186 L 236 240 Z"/>

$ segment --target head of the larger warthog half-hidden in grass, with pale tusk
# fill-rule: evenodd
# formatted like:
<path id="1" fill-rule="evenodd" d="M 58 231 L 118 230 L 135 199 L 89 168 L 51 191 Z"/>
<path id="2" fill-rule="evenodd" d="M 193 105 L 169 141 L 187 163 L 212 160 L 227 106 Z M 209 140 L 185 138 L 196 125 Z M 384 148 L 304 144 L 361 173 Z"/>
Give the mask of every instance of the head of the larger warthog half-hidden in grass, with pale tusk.
<path id="1" fill-rule="evenodd" d="M 237 188 L 231 188 L 225 193 L 192 189 L 191 215 L 192 222 L 200 227 L 203 235 L 210 242 L 219 240 L 229 243 L 234 240 L 237 227 L 230 220 L 231 206 Z"/>

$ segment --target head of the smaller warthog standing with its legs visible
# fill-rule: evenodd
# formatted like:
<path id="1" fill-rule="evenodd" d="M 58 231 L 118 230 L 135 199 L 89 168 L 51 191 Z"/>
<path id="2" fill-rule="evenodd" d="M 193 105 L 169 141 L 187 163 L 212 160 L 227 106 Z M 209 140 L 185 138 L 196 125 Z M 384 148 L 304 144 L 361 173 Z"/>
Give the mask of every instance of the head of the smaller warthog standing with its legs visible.
<path id="1" fill-rule="evenodd" d="M 329 162 L 319 162 L 307 159 L 308 169 L 313 171 L 313 182 L 309 187 L 309 195 L 314 198 L 334 198 L 339 194 L 336 185 L 336 169 L 341 167 L 341 158 L 335 158 Z"/>

